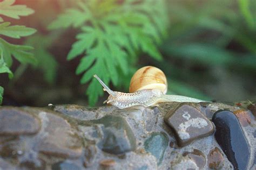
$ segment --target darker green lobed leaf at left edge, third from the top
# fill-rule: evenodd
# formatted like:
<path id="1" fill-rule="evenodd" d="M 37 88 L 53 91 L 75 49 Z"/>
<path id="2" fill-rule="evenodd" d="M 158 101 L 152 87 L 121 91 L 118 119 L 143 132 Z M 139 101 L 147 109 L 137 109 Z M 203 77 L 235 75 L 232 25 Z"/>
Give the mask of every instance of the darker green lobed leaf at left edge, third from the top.
<path id="1" fill-rule="evenodd" d="M 30 63 L 35 65 L 37 62 L 34 55 L 28 52 L 33 49 L 31 46 L 10 44 L 9 42 L 6 42 L 0 38 L 0 49 L 2 49 L 3 58 L 8 67 L 11 66 L 12 62 L 11 55 L 13 55 L 14 58 L 21 63 Z"/>

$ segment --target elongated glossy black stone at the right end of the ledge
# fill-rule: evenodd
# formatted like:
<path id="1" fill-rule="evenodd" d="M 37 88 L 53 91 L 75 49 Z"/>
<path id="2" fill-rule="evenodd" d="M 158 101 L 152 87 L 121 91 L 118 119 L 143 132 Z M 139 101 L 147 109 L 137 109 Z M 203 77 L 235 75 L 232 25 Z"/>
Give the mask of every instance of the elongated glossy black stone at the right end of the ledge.
<path id="1" fill-rule="evenodd" d="M 251 150 L 238 118 L 231 111 L 218 110 L 212 122 L 216 126 L 215 139 L 234 169 L 248 169 Z"/>

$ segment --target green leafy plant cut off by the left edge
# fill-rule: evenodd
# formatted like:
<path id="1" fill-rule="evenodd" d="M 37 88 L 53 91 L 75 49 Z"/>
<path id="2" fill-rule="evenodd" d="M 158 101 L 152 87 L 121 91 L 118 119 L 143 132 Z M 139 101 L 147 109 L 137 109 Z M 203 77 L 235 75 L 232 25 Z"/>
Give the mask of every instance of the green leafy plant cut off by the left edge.
<path id="1" fill-rule="evenodd" d="M 27 8 L 26 5 L 14 5 L 15 0 L 5 0 L 0 2 L 0 15 L 19 19 L 20 16 L 28 16 L 34 11 Z M 10 22 L 4 22 L 4 19 L 0 17 L 0 34 L 10 38 L 19 39 L 21 37 L 30 36 L 35 33 L 36 30 L 23 25 L 10 25 Z M 12 56 L 21 63 L 30 63 L 35 65 L 36 59 L 30 52 L 33 47 L 24 45 L 10 44 L 4 39 L 0 38 L 0 73 L 8 73 L 9 78 L 13 77 L 10 70 L 12 65 Z M 0 103 L 2 103 L 3 87 L 0 87 Z"/>

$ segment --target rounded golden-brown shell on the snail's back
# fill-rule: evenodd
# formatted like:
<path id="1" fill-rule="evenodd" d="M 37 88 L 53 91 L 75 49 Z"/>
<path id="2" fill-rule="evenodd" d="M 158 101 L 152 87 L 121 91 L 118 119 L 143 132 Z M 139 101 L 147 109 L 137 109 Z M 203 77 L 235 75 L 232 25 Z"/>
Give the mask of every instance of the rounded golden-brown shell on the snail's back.
<path id="1" fill-rule="evenodd" d="M 129 93 L 146 89 L 159 89 L 163 94 L 166 94 L 167 80 L 164 72 L 153 66 L 138 69 L 132 76 Z"/>

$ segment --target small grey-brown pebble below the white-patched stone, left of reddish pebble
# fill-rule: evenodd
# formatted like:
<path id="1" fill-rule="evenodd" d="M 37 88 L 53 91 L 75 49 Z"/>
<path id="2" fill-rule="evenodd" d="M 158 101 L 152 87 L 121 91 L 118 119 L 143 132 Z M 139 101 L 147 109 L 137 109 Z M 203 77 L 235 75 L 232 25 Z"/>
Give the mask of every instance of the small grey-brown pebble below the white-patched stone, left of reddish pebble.
<path id="1" fill-rule="evenodd" d="M 193 152 L 184 152 L 183 156 L 193 159 L 199 169 L 205 166 L 205 155 L 199 150 L 194 149 Z"/>

